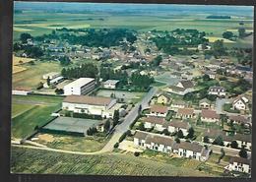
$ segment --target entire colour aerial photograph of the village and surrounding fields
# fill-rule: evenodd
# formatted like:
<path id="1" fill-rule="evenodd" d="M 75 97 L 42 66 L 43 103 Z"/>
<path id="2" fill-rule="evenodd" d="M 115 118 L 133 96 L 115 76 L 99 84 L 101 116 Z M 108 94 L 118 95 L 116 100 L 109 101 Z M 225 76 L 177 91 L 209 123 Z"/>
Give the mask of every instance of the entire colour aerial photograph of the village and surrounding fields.
<path id="1" fill-rule="evenodd" d="M 253 11 L 16 1 L 11 173 L 250 178 Z"/>

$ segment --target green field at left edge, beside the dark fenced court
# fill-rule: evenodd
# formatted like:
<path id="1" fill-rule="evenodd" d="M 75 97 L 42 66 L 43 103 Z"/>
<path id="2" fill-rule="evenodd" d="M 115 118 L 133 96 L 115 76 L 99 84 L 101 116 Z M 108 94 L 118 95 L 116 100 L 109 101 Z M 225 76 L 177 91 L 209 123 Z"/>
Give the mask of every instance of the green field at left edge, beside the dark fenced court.
<path id="1" fill-rule="evenodd" d="M 32 134 L 35 126 L 45 124 L 50 114 L 60 108 L 62 98 L 53 96 L 13 96 L 12 137 L 24 138 Z"/>

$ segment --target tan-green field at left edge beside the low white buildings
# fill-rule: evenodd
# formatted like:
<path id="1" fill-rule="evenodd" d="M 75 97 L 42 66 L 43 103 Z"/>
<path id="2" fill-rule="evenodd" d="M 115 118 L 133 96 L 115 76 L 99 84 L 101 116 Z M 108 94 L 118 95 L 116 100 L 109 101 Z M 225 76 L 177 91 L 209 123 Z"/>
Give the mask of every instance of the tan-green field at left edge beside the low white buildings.
<path id="1" fill-rule="evenodd" d="M 56 62 L 35 61 L 34 65 L 23 65 L 23 68 L 26 70 L 13 75 L 13 88 L 23 87 L 35 89 L 41 81 L 42 75 L 49 72 L 61 71 L 61 66 Z"/>

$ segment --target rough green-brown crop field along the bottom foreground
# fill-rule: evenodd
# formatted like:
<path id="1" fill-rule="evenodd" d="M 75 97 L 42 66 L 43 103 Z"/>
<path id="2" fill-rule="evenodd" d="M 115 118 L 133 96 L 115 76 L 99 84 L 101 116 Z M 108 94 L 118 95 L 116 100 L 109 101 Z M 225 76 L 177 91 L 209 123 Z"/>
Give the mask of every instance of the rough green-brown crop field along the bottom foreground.
<path id="1" fill-rule="evenodd" d="M 176 167 L 131 154 L 78 155 L 12 147 L 12 173 L 212 176 L 189 166 Z"/>

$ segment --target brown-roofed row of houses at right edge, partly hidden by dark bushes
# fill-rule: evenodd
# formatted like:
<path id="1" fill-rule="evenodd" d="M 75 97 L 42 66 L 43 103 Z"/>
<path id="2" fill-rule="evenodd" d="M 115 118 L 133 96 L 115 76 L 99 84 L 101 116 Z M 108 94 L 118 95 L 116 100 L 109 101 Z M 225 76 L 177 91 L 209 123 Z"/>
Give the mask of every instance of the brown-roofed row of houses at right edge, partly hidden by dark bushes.
<path id="1" fill-rule="evenodd" d="M 251 150 L 251 135 L 243 135 L 239 133 L 235 133 L 234 135 L 229 135 L 227 132 L 223 130 L 214 130 L 208 129 L 204 132 L 202 137 L 202 142 L 204 141 L 204 137 L 209 137 L 209 142 L 213 143 L 217 137 L 221 137 L 224 141 L 224 146 L 230 146 L 232 141 L 236 141 L 238 148 L 242 148 L 243 146 L 247 150 Z"/>

